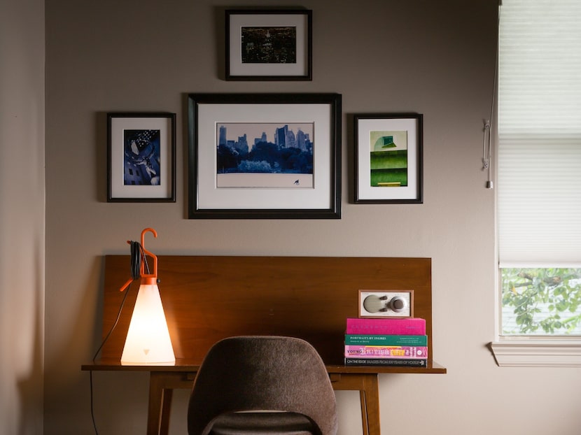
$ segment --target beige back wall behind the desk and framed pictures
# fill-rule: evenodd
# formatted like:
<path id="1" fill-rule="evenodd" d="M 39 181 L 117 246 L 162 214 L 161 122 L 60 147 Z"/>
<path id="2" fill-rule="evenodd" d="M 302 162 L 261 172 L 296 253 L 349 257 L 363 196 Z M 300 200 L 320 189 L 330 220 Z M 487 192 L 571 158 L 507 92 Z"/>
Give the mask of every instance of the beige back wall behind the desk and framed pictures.
<path id="1" fill-rule="evenodd" d="M 158 254 L 414 256 L 433 259 L 433 356 L 445 376 L 381 376 L 381 420 L 399 434 L 576 435 L 579 369 L 500 369 L 494 338 L 494 191 L 481 170 L 496 0 L 304 0 L 312 82 L 226 82 L 232 0 L 51 0 L 46 5 L 45 434 L 90 434 L 102 255 L 153 227 Z M 341 220 L 188 220 L 187 92 L 339 92 Z M 106 112 L 177 113 L 175 204 L 106 203 Z M 355 205 L 353 113 L 424 115 L 424 203 Z M 102 434 L 142 434 L 147 376 L 94 374 Z M 341 435 L 360 433 L 358 396 L 338 392 Z M 185 433 L 187 393 L 172 433 Z"/>

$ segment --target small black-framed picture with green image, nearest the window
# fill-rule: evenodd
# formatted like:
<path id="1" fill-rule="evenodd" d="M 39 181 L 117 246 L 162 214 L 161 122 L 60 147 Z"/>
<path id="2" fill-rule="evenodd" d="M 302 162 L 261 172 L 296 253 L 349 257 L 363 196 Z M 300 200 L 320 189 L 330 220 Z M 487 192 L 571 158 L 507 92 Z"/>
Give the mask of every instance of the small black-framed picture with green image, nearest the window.
<path id="1" fill-rule="evenodd" d="M 355 202 L 423 202 L 423 116 L 355 115 Z"/>

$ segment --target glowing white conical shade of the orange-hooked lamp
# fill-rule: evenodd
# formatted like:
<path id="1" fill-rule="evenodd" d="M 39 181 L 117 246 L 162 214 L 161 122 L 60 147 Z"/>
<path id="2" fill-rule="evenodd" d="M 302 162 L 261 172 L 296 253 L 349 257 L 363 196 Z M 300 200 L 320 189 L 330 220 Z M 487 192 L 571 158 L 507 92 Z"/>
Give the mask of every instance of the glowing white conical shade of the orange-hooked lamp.
<path id="1" fill-rule="evenodd" d="M 141 284 L 125 339 L 121 364 L 176 362 L 157 284 Z"/>

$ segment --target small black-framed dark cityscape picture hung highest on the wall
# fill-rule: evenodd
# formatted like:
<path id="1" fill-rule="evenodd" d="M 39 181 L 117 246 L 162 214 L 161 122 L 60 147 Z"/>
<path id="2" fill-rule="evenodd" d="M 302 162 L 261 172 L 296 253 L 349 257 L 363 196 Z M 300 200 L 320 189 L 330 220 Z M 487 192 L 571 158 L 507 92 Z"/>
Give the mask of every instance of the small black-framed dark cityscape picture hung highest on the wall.
<path id="1" fill-rule="evenodd" d="M 311 10 L 226 10 L 226 80 L 312 80 Z"/>

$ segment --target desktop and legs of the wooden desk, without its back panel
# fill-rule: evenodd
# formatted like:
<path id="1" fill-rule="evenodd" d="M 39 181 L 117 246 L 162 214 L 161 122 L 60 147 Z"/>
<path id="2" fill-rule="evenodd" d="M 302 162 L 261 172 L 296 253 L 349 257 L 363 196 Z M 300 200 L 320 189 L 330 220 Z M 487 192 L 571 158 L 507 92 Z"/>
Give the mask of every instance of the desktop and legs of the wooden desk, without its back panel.
<path id="1" fill-rule="evenodd" d="M 167 435 L 172 395 L 176 389 L 191 390 L 199 365 L 177 360 L 173 366 L 122 366 L 119 360 L 102 359 L 82 367 L 86 371 L 149 371 L 147 435 Z M 363 435 L 381 435 L 379 424 L 380 373 L 446 373 L 439 364 L 429 362 L 416 367 L 364 367 L 327 365 L 334 390 L 359 392 Z"/>

